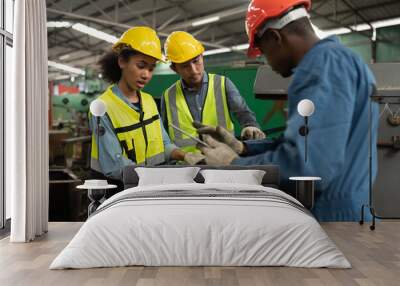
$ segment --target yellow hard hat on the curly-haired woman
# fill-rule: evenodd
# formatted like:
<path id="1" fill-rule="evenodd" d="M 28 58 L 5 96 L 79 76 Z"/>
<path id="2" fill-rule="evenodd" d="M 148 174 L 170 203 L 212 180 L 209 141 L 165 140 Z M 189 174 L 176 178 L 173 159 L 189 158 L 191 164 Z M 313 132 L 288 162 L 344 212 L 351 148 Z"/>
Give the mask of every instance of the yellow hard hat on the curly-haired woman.
<path id="1" fill-rule="evenodd" d="M 156 31 L 149 27 L 133 27 L 125 31 L 121 38 L 113 45 L 113 50 L 118 51 L 121 45 L 162 61 L 161 43 Z"/>

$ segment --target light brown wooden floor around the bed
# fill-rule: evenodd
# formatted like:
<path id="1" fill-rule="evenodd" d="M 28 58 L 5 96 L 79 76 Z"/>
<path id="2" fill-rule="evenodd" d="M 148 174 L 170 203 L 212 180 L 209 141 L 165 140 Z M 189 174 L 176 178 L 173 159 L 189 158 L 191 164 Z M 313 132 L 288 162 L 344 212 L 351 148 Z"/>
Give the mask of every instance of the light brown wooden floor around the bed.
<path id="1" fill-rule="evenodd" d="M 80 223 L 50 223 L 49 233 L 27 244 L 0 241 L 0 285 L 400 285 L 400 222 L 375 231 L 356 223 L 323 224 L 350 260 L 350 270 L 288 267 L 123 267 L 48 270 Z"/>

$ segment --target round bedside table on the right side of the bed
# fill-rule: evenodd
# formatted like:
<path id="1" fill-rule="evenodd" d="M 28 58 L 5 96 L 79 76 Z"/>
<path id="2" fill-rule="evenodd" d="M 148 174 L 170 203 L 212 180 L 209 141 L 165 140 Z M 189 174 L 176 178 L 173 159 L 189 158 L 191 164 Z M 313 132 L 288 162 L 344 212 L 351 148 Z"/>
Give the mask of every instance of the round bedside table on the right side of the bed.
<path id="1" fill-rule="evenodd" d="M 315 182 L 321 181 L 320 177 L 290 177 L 289 180 L 296 182 L 296 199 L 307 209 L 314 207 Z"/>

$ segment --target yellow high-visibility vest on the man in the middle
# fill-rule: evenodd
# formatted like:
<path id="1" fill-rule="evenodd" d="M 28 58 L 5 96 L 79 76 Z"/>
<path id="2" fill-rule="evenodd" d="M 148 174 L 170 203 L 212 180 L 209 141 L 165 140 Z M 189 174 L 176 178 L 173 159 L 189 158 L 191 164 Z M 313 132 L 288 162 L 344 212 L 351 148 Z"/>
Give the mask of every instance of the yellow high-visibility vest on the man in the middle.
<path id="1" fill-rule="evenodd" d="M 164 99 L 168 122 L 198 138 L 196 128 L 193 127 L 193 116 L 182 91 L 181 80 L 178 80 L 164 92 Z M 233 132 L 234 125 L 226 100 L 224 76 L 208 74 L 208 90 L 202 108 L 201 122 L 211 126 L 220 125 Z M 186 152 L 199 151 L 196 148 L 196 141 L 187 135 L 171 126 L 168 126 L 168 132 L 171 140 L 182 150 Z"/>

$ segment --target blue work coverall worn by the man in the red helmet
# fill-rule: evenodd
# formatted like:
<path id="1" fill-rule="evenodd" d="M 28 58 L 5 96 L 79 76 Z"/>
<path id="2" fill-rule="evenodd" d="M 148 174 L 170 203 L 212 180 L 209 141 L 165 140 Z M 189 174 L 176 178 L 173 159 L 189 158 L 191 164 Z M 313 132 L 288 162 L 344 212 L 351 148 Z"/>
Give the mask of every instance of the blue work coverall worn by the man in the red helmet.
<path id="1" fill-rule="evenodd" d="M 288 90 L 288 121 L 282 138 L 246 142 L 249 157 L 235 165 L 277 164 L 283 185 L 291 176 L 319 176 L 313 213 L 320 221 L 360 219 L 369 191 L 369 97 L 375 79 L 368 66 L 337 37 L 319 41 L 296 67 Z M 302 99 L 314 102 L 309 118 L 308 160 L 297 113 Z M 371 105 L 372 180 L 377 172 L 378 105 Z M 257 154 L 257 155 L 255 155 Z M 253 155 L 253 156 L 252 156 Z M 290 185 L 289 185 L 290 184 Z"/>

